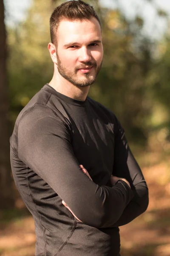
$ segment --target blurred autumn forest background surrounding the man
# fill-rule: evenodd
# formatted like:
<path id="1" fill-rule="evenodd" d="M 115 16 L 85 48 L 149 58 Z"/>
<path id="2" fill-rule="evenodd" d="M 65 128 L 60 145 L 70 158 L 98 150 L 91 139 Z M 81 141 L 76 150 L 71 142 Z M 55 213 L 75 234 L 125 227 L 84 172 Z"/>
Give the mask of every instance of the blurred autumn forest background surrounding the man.
<path id="1" fill-rule="evenodd" d="M 91 3 L 102 20 L 103 66 L 90 96 L 110 108 L 125 128 L 150 191 L 142 216 L 120 227 L 122 256 L 170 256 L 170 17 L 154 0 L 133 6 L 127 17 L 120 0 L 107 8 Z M 5 0 L 4 0 L 5 2 Z M 0 255 L 33 256 L 34 222 L 18 195 L 11 175 L 9 137 L 18 113 L 51 80 L 47 49 L 49 17 L 62 0 L 33 0 L 25 18 L 10 26 L 0 0 Z M 103 1 L 104 2 L 104 1 Z M 127 0 L 128 2 L 128 0 Z M 168 2 L 168 0 L 167 0 Z M 144 4 L 154 9 L 153 30 L 142 16 Z M 149 16 L 149 12 L 148 12 Z M 154 37 L 157 21 L 167 29 Z"/>

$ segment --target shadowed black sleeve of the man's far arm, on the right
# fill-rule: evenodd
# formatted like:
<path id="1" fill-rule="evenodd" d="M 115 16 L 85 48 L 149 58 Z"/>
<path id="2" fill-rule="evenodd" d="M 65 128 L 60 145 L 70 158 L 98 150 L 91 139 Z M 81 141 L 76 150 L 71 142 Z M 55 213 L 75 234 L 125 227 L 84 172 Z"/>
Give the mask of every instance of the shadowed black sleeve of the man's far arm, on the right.
<path id="1" fill-rule="evenodd" d="M 146 211 L 149 196 L 142 171 L 130 151 L 125 132 L 119 121 L 115 125 L 115 155 L 113 175 L 129 181 L 134 197 L 127 204 L 121 217 L 112 227 L 125 225 Z"/>

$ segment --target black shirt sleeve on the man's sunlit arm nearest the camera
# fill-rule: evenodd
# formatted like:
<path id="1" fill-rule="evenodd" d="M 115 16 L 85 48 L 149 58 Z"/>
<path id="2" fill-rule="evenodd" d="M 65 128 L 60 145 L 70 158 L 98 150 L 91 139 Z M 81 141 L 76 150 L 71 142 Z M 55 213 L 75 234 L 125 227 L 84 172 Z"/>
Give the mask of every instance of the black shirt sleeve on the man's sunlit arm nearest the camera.
<path id="1" fill-rule="evenodd" d="M 69 125 L 47 106 L 34 106 L 21 117 L 18 156 L 89 226 L 111 227 L 133 198 L 125 184 L 99 186 L 82 172 Z"/>

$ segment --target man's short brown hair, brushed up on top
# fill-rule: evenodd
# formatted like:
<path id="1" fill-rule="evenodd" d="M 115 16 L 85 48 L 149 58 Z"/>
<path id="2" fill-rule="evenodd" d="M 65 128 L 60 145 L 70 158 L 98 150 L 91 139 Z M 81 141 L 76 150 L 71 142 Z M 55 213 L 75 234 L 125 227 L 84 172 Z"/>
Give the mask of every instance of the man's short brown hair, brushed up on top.
<path id="1" fill-rule="evenodd" d="M 56 39 L 56 31 L 62 19 L 89 20 L 91 17 L 95 17 L 101 26 L 101 22 L 93 6 L 90 6 L 88 3 L 81 0 L 72 0 L 62 3 L 56 9 L 54 9 L 54 12 L 50 17 L 51 42 L 54 44 Z"/>

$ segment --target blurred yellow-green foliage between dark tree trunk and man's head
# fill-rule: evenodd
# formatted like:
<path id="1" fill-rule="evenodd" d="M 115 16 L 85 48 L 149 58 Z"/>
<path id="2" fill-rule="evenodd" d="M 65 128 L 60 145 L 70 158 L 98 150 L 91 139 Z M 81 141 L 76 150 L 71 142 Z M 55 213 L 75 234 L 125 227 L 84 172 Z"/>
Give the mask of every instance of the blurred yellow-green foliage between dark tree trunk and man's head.
<path id="1" fill-rule="evenodd" d="M 51 79 L 53 65 L 47 49 L 51 10 L 49 2 L 36 0 L 26 20 L 15 29 L 8 28 L 8 80 L 12 120 Z"/>

